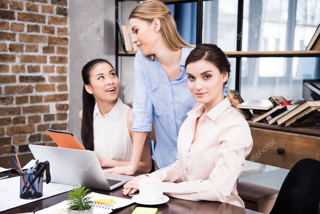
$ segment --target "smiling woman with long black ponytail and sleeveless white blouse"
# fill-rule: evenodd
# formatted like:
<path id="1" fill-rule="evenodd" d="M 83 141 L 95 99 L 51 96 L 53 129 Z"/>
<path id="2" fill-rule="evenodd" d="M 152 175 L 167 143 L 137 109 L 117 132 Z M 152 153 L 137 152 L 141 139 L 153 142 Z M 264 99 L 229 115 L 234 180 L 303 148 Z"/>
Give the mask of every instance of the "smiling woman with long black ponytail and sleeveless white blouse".
<path id="1" fill-rule="evenodd" d="M 126 166 L 132 154 L 132 109 L 122 103 L 119 79 L 113 66 L 95 59 L 82 69 L 83 110 L 79 117 L 84 148 L 95 151 L 102 167 Z M 151 171 L 151 151 L 146 140 L 138 171 Z"/>

